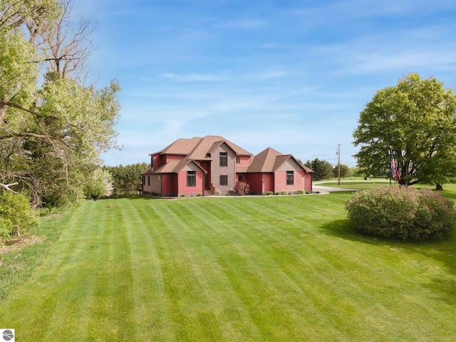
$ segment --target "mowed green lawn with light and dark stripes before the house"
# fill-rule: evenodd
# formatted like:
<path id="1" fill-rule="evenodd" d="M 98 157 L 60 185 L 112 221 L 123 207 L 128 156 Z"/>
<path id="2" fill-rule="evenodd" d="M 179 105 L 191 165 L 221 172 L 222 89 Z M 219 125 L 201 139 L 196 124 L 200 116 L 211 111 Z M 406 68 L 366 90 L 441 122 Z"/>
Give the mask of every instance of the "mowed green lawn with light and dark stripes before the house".
<path id="1" fill-rule="evenodd" d="M 19 342 L 454 341 L 455 234 L 361 237 L 350 196 L 83 202 L 1 300 L 0 328 Z"/>

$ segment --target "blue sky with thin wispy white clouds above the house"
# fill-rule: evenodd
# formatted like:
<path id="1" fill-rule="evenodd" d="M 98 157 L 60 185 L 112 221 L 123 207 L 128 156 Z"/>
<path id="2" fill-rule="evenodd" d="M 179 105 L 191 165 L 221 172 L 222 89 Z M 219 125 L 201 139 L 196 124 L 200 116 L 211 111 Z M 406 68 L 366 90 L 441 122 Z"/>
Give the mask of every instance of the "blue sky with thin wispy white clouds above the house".
<path id="1" fill-rule="evenodd" d="M 90 68 L 118 79 L 123 150 L 149 162 L 177 138 L 222 135 L 254 155 L 356 166 L 375 92 L 410 72 L 456 85 L 456 2 L 75 0 L 97 26 Z"/>

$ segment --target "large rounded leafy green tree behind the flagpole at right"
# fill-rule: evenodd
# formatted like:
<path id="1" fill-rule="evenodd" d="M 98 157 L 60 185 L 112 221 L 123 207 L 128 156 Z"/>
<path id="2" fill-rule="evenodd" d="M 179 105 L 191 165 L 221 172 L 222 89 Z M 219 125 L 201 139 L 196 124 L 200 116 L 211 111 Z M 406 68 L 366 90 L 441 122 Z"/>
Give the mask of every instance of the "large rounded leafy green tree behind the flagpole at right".
<path id="1" fill-rule="evenodd" d="M 437 187 L 456 176 L 456 97 L 436 78 L 410 73 L 375 93 L 360 113 L 353 144 L 358 165 L 368 174 L 388 175 L 389 150 L 400 184 L 432 182 Z"/>

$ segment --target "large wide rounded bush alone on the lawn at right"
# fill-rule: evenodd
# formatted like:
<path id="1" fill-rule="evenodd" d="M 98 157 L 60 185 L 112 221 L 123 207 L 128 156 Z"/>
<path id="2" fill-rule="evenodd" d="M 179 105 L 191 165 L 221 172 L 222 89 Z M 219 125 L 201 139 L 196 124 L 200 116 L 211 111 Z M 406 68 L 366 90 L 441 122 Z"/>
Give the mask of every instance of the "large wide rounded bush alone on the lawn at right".
<path id="1" fill-rule="evenodd" d="M 356 192 L 346 202 L 353 227 L 385 238 L 425 240 L 455 227 L 454 203 L 429 189 L 378 187 Z"/>

